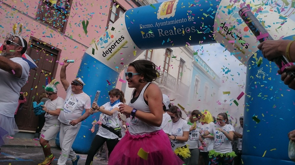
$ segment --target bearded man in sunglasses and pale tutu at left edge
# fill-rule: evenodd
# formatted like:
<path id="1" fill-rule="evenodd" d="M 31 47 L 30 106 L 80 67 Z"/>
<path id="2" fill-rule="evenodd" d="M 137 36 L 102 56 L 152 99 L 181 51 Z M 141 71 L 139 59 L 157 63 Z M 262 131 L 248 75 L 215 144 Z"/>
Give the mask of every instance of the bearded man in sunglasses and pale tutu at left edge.
<path id="1" fill-rule="evenodd" d="M 0 130 L 4 129 L 7 132 L 4 137 L 14 135 L 15 130 L 18 130 L 14 121 L 14 112 L 18 107 L 21 88 L 26 84 L 29 77 L 29 64 L 22 59 L 22 54 L 26 52 L 27 46 L 26 40 L 18 35 L 7 35 L 1 46 Z"/>

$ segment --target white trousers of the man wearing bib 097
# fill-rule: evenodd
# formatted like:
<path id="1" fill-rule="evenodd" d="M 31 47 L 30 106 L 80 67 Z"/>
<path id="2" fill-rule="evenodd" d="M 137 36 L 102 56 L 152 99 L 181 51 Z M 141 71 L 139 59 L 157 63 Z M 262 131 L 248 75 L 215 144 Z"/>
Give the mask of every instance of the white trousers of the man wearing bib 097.
<path id="1" fill-rule="evenodd" d="M 76 158 L 76 153 L 72 149 L 73 142 L 80 130 L 81 124 L 75 126 L 61 123 L 59 132 L 59 143 L 61 145 L 61 156 L 58 158 L 58 165 L 65 165 L 68 158 L 71 160 Z"/>

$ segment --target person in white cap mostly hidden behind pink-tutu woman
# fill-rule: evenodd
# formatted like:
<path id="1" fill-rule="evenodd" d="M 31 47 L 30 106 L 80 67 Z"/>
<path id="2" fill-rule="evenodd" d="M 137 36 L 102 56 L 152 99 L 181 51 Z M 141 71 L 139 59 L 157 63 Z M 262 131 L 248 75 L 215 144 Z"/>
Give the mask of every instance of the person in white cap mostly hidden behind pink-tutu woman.
<path id="1" fill-rule="evenodd" d="M 171 117 L 166 113 L 169 110 L 170 99 L 166 94 L 163 94 L 163 120 L 161 124 L 162 130 L 169 136 L 172 134 Z"/>

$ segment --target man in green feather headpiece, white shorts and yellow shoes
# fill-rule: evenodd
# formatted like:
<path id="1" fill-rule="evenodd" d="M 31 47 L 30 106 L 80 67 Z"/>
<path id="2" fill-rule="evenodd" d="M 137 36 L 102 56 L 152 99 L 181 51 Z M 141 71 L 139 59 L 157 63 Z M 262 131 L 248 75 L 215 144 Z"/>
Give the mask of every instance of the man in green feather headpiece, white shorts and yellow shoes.
<path id="1" fill-rule="evenodd" d="M 45 86 L 45 92 L 49 100 L 46 101 L 45 105 L 41 105 L 45 111 L 45 123 L 41 130 L 40 138 L 40 145 L 42 146 L 45 160 L 38 165 L 47 165 L 54 160 L 54 156 L 50 150 L 49 140 L 54 138 L 60 130 L 61 122 L 57 118 L 65 104 L 64 99 L 57 96 L 57 84 L 59 82 L 54 84 L 51 82 Z"/>

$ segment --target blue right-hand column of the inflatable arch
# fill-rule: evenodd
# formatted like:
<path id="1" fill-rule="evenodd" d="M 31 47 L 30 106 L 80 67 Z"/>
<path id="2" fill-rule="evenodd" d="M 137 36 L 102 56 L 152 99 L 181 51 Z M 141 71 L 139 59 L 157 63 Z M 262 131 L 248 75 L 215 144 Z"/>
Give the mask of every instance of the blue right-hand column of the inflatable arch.
<path id="1" fill-rule="evenodd" d="M 262 64 L 258 67 L 253 61 L 259 57 Z M 288 157 L 288 133 L 295 129 L 294 91 L 281 81 L 277 70 L 261 51 L 247 63 L 242 141 L 242 160 L 246 165 L 294 164 Z"/>

